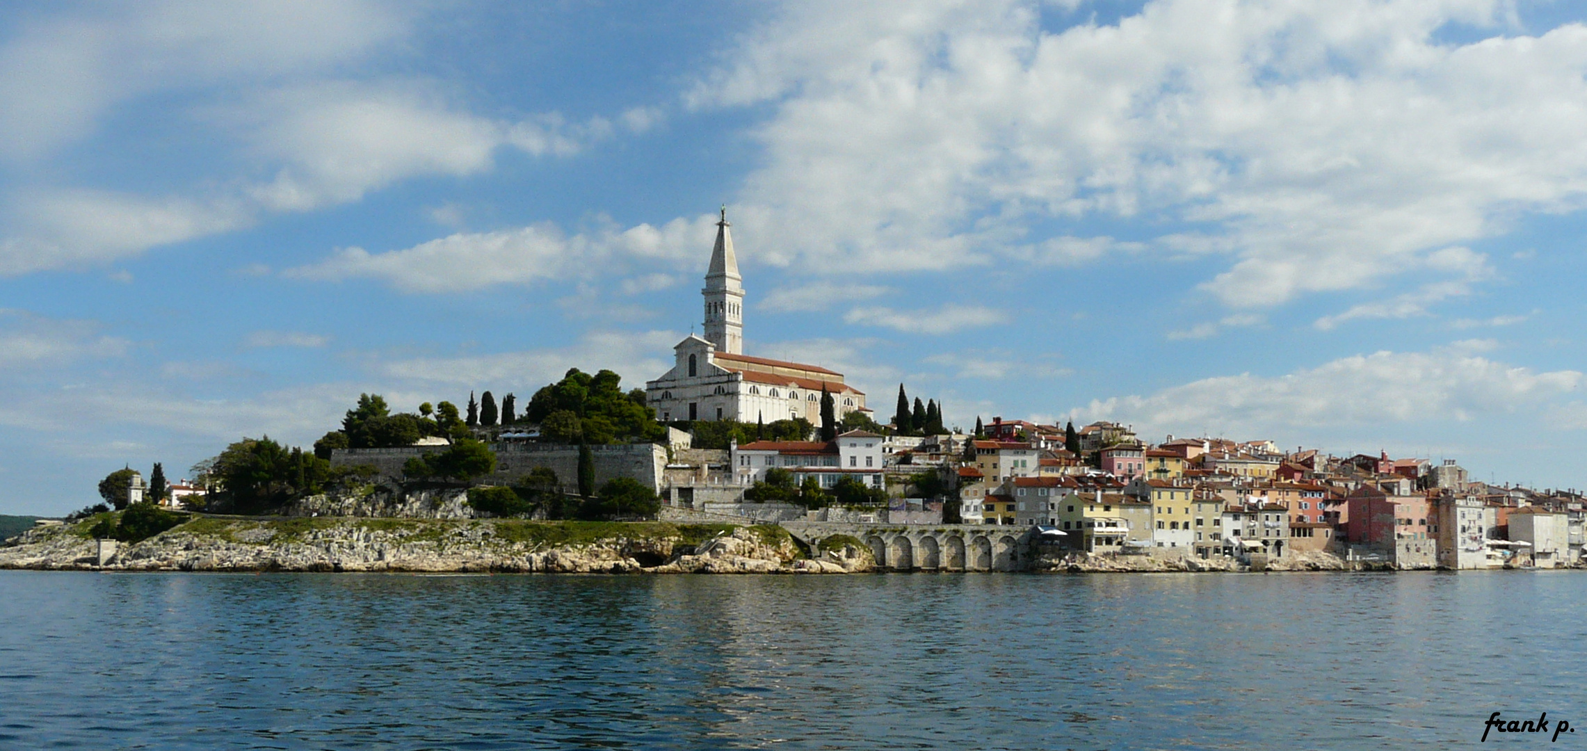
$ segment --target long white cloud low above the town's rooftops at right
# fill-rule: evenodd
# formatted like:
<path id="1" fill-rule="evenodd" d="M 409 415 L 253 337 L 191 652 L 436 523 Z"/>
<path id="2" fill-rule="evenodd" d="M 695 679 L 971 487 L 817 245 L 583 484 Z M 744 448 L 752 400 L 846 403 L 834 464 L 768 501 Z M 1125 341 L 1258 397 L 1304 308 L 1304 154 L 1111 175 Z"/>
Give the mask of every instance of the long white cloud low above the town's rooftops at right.
<path id="1" fill-rule="evenodd" d="M 1276 429 L 1362 427 L 1474 421 L 1535 410 L 1574 394 L 1582 373 L 1538 373 L 1484 357 L 1492 341 L 1457 341 L 1427 352 L 1343 357 L 1282 376 L 1206 378 L 1139 397 L 1092 402 L 1079 414 L 1130 419 L 1182 433 L 1217 426 L 1232 435 Z"/>

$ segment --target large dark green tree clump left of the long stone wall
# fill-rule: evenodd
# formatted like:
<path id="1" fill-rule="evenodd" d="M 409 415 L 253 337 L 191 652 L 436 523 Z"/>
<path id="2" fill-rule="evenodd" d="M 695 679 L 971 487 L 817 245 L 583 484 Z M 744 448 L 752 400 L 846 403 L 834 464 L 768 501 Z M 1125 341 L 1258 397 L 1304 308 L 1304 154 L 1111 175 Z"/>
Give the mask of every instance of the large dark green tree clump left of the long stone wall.
<path id="1" fill-rule="evenodd" d="M 330 462 L 263 438 L 243 438 L 214 457 L 211 476 L 225 503 L 238 513 L 257 513 L 321 491 Z"/>

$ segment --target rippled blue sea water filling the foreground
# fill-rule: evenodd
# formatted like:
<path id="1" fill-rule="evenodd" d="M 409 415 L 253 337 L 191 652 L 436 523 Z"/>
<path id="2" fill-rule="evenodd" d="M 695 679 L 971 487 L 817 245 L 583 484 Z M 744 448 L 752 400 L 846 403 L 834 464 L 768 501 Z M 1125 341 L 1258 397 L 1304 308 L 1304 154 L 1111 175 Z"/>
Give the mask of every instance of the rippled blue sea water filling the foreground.
<path id="1" fill-rule="evenodd" d="M 1584 613 L 1574 572 L 0 572 L 0 748 L 1447 748 L 1495 710 L 1582 748 Z"/>

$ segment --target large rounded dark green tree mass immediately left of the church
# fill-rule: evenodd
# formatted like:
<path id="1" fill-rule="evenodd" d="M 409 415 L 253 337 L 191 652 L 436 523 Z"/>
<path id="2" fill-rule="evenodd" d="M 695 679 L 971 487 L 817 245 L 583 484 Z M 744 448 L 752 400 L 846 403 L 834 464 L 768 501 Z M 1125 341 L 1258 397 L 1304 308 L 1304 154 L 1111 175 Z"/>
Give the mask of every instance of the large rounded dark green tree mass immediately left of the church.
<path id="1" fill-rule="evenodd" d="M 555 416 L 555 421 L 551 418 Z M 535 392 L 524 421 L 540 426 L 541 437 L 557 443 L 657 441 L 667 427 L 644 405 L 644 392 L 622 391 L 622 376 L 601 370 L 594 376 L 571 368 L 560 381 Z M 554 422 L 548 426 L 548 422 Z"/>

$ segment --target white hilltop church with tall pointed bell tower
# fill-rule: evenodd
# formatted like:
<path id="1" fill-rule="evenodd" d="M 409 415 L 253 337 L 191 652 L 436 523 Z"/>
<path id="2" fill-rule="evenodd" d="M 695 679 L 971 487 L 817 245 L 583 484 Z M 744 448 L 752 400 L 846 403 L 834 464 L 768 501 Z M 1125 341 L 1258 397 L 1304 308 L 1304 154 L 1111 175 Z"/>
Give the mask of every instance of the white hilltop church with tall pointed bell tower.
<path id="1" fill-rule="evenodd" d="M 705 337 L 673 348 L 673 368 L 644 384 L 655 419 L 736 419 L 743 422 L 805 418 L 820 424 L 820 391 L 832 394 L 835 414 L 870 413 L 865 394 L 843 383 L 843 373 L 819 365 L 744 354 L 744 287 L 727 222 L 716 222 L 716 246 L 705 275 Z"/>

